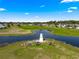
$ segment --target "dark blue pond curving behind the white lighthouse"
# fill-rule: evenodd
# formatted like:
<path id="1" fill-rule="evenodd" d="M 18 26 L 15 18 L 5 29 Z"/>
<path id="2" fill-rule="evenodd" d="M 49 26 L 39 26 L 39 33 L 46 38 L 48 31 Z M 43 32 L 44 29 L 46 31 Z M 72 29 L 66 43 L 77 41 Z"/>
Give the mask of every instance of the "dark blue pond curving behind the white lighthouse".
<path id="1" fill-rule="evenodd" d="M 33 34 L 24 36 L 0 36 L 0 44 L 13 43 L 16 41 L 23 41 L 23 40 L 36 40 L 39 38 L 40 33 L 43 33 L 44 39 L 48 38 L 55 39 L 79 47 L 79 37 L 54 35 L 47 30 L 33 31 Z"/>

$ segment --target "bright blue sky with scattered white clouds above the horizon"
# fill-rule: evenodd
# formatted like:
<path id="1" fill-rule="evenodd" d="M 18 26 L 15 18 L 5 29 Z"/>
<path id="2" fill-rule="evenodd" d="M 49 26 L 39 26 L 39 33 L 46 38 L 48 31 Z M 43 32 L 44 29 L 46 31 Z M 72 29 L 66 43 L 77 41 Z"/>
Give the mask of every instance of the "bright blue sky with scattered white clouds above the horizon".
<path id="1" fill-rule="evenodd" d="M 79 20 L 79 0 L 0 0 L 0 22 Z"/>

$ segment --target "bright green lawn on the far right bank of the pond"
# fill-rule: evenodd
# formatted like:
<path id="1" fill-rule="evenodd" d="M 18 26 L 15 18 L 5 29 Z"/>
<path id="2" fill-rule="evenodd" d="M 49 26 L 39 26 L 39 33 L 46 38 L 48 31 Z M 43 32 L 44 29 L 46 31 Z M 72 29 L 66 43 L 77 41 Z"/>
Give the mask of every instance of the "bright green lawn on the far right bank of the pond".
<path id="1" fill-rule="evenodd" d="M 63 36 L 79 36 L 78 29 L 67 29 L 67 28 L 52 28 L 51 32 L 56 35 Z"/>

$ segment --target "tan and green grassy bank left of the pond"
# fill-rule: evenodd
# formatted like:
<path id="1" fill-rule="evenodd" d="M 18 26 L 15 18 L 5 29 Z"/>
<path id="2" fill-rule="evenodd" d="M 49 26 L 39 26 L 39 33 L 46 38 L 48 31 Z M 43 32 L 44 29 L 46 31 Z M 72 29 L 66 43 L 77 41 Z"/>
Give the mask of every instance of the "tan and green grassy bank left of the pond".
<path id="1" fill-rule="evenodd" d="M 18 26 L 12 26 L 7 29 L 0 29 L 0 36 L 19 36 L 19 35 L 26 35 L 31 33 L 32 33 L 31 30 L 22 29 Z"/>

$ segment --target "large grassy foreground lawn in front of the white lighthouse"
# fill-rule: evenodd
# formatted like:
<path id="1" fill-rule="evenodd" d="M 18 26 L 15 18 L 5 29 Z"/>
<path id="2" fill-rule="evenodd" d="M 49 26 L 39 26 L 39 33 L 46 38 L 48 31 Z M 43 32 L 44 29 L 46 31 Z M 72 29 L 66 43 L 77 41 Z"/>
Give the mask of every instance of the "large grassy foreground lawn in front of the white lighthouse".
<path id="1" fill-rule="evenodd" d="M 0 59 L 79 59 L 79 48 L 55 40 L 23 41 L 0 47 Z"/>

